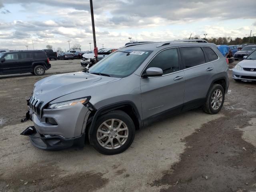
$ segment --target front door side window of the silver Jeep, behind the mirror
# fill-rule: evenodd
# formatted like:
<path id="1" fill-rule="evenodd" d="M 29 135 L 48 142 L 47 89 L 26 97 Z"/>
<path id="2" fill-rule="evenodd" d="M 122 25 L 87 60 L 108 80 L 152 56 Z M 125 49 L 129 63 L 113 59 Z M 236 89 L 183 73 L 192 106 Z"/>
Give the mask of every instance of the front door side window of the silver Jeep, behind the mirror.
<path id="1" fill-rule="evenodd" d="M 148 64 L 147 68 L 158 67 L 163 74 L 169 74 L 180 70 L 177 48 L 167 49 L 157 54 Z"/>

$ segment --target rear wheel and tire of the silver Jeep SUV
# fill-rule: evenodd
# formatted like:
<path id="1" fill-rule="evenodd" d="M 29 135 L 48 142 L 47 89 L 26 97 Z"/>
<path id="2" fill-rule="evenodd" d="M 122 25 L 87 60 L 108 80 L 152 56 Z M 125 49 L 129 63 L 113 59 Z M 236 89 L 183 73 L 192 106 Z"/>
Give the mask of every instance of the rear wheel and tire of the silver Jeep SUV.
<path id="1" fill-rule="evenodd" d="M 222 94 L 222 96 L 220 98 L 217 98 L 218 102 L 216 101 L 214 102 L 214 99 L 215 99 L 214 97 L 216 97 L 214 94 L 218 95 L 219 91 L 220 91 L 220 94 Z M 225 91 L 223 87 L 220 84 L 213 84 L 213 86 L 210 88 L 210 91 L 207 95 L 206 102 L 203 105 L 204 112 L 209 114 L 217 114 L 223 106 L 224 99 L 225 99 Z"/>

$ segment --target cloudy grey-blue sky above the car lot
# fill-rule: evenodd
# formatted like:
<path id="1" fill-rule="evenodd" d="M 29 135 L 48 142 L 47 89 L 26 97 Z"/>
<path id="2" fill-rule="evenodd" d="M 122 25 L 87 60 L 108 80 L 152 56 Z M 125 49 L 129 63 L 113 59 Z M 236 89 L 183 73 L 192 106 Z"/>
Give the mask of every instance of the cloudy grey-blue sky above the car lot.
<path id="1" fill-rule="evenodd" d="M 138 41 L 256 35 L 256 0 L 94 0 L 98 48 Z M 89 0 L 0 0 L 0 48 L 68 50 L 93 42 Z"/>

